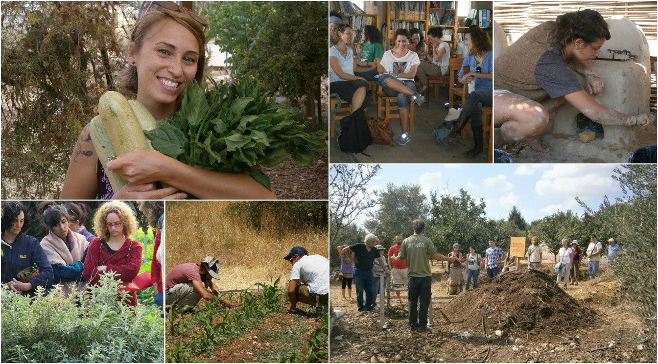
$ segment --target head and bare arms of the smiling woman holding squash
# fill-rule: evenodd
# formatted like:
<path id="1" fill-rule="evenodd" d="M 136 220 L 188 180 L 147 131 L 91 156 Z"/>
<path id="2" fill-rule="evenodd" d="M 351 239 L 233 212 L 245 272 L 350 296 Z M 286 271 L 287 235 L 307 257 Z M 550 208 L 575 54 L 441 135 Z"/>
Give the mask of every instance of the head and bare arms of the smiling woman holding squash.
<path id="1" fill-rule="evenodd" d="M 128 66 L 121 73 L 122 87 L 155 120 L 169 118 L 180 108 L 186 85 L 203 81 L 205 28 L 208 22 L 197 12 L 172 1 L 151 1 L 130 34 Z M 249 173 L 220 173 L 188 166 L 155 150 L 132 150 L 107 164 L 128 185 L 113 191 L 98 160 L 89 125 L 73 148 L 61 199 L 181 199 L 276 198 Z M 255 168 L 260 168 L 256 166 Z M 170 187 L 153 189 L 161 181 Z"/>

